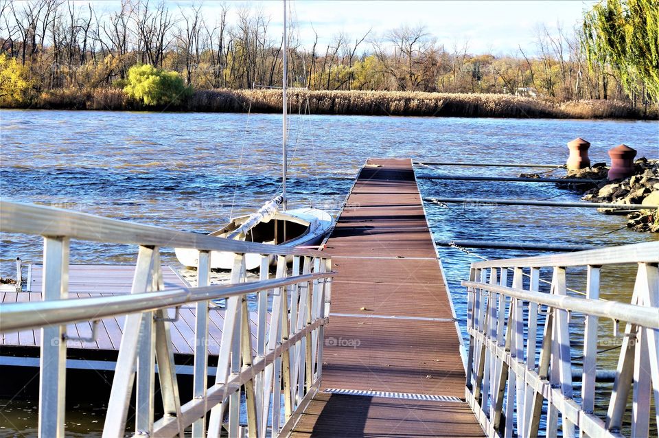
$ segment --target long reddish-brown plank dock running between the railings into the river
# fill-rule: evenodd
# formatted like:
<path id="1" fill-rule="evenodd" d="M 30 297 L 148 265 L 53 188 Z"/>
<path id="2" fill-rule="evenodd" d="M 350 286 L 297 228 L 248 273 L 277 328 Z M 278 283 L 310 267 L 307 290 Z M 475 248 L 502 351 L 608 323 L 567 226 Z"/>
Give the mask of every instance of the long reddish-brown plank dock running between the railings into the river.
<path id="1" fill-rule="evenodd" d="M 323 382 L 292 436 L 483 436 L 411 160 L 367 162 L 326 251 Z"/>

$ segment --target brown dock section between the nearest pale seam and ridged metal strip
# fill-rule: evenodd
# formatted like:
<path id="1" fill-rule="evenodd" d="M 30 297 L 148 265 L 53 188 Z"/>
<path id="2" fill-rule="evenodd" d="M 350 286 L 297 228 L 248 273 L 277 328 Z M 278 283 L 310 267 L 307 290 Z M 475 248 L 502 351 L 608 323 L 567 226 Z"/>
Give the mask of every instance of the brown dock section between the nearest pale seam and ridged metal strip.
<path id="1" fill-rule="evenodd" d="M 330 316 L 322 387 L 463 397 L 451 332 L 453 322 Z"/>

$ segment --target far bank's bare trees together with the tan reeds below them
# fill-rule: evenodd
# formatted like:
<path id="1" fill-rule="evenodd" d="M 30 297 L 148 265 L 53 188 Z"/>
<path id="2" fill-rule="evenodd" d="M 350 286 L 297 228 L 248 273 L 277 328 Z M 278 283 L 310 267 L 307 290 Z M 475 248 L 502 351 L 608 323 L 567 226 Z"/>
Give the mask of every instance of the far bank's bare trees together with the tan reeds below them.
<path id="1" fill-rule="evenodd" d="M 0 106 L 275 111 L 277 93 L 260 87 L 281 84 L 281 34 L 262 9 L 106 4 L 0 0 Z M 293 97 L 312 113 L 656 118 L 643 80 L 588 56 L 592 32 L 581 25 L 537 27 L 525 42 L 533 54 L 520 45 L 509 56 L 474 54 L 423 25 L 338 33 L 326 45 L 298 34 L 290 28 L 289 84 L 308 89 Z M 178 75 L 185 98 L 135 99 L 129 71 L 143 65 Z"/>

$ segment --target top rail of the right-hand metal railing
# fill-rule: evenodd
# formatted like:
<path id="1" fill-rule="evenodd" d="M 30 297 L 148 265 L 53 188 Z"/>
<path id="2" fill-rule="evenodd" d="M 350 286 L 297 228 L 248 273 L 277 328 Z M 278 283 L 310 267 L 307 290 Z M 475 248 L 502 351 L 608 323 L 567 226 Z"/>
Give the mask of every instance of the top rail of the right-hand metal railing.
<path id="1" fill-rule="evenodd" d="M 472 263 L 472 268 L 544 268 L 553 266 L 599 266 L 604 264 L 659 263 L 659 242 L 589 249 L 577 253 L 518 257 Z"/>

